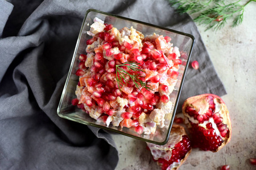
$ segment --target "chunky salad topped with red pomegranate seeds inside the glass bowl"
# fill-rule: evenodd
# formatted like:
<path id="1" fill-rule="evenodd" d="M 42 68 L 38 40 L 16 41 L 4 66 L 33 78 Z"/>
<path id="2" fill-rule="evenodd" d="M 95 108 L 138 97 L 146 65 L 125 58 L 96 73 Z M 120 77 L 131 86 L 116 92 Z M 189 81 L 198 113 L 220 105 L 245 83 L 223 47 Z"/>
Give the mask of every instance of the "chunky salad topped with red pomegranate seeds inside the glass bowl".
<path id="1" fill-rule="evenodd" d="M 94 18 L 79 56 L 77 99 L 72 102 L 106 126 L 155 134 L 167 128 L 181 64 L 171 37 L 117 29 Z"/>

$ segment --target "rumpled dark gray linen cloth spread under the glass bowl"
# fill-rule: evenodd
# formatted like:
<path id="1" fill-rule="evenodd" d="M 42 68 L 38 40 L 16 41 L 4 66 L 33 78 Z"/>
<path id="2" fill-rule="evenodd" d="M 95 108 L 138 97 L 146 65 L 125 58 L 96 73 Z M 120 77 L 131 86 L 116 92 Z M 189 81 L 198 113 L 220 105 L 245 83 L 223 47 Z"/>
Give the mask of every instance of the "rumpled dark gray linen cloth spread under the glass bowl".
<path id="1" fill-rule="evenodd" d="M 114 169 L 118 152 L 103 130 L 57 116 L 86 10 L 110 12 L 196 38 L 177 112 L 187 97 L 225 89 L 195 23 L 167 1 L 0 0 L 0 169 Z"/>

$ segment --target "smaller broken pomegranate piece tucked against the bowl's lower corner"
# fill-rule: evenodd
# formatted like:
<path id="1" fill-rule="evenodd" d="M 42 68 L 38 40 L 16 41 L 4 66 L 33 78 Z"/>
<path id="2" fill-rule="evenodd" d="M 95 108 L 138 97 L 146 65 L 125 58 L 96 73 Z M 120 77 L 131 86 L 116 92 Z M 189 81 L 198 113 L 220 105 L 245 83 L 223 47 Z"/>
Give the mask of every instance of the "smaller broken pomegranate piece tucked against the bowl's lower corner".
<path id="1" fill-rule="evenodd" d="M 191 142 L 185 129 L 180 125 L 173 125 L 170 138 L 166 145 L 147 143 L 153 159 L 165 169 L 178 169 L 185 162 L 191 152 Z"/>

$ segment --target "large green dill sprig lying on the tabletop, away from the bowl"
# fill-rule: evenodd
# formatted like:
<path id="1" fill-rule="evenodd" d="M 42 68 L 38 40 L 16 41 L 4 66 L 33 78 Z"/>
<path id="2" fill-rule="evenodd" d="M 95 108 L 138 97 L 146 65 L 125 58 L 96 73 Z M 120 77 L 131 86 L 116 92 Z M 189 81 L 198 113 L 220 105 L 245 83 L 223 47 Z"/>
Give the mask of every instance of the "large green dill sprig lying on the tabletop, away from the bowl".
<path id="1" fill-rule="evenodd" d="M 207 29 L 217 31 L 223 28 L 228 19 L 233 19 L 232 27 L 236 27 L 243 21 L 243 12 L 245 6 L 250 2 L 247 1 L 245 5 L 240 5 L 240 1 L 233 3 L 225 3 L 224 0 L 168 0 L 170 5 L 175 7 L 177 12 L 194 15 L 194 21 L 203 25 Z"/>

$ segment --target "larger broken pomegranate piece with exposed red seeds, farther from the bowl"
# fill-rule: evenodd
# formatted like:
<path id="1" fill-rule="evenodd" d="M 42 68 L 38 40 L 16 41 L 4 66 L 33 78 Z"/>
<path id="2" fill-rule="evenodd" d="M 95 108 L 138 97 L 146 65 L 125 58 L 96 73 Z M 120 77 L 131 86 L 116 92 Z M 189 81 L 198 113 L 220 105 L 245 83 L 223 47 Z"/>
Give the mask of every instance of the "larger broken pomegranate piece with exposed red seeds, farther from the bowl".
<path id="1" fill-rule="evenodd" d="M 204 94 L 185 100 L 184 122 L 192 136 L 192 147 L 217 152 L 231 138 L 229 111 L 216 95 Z"/>

